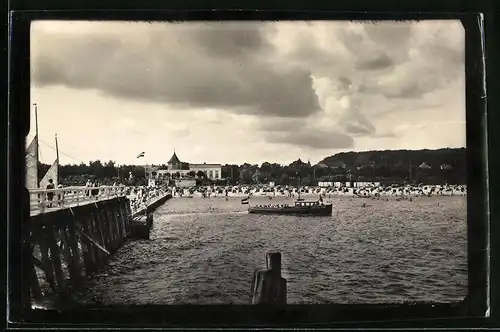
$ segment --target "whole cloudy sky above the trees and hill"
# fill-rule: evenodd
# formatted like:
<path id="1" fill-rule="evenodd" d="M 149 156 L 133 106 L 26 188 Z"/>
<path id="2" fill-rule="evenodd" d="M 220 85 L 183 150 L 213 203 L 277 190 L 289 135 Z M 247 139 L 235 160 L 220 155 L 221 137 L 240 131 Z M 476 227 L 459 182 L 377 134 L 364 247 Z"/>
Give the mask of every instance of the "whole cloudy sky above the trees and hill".
<path id="1" fill-rule="evenodd" d="M 63 164 L 166 163 L 174 149 L 192 163 L 288 164 L 462 147 L 464 72 L 459 21 L 31 27 L 46 163 L 55 133 Z"/>

